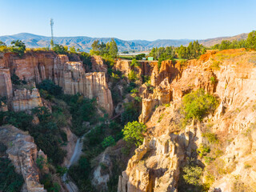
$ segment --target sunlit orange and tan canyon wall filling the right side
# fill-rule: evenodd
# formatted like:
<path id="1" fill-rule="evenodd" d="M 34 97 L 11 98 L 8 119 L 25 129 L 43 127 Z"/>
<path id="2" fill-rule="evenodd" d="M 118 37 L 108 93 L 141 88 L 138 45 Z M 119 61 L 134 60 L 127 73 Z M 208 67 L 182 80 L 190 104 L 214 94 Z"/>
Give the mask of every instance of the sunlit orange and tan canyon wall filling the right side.
<path id="1" fill-rule="evenodd" d="M 196 158 L 198 165 L 203 165 L 202 182 L 208 185 L 209 177 L 214 177 L 210 191 L 238 191 L 238 186 L 243 191 L 256 190 L 254 54 L 245 50 L 212 52 L 186 62 L 182 70 L 167 62 L 161 68 L 169 70 L 161 75 L 154 67 L 151 74 L 154 93 L 143 94 L 140 116 L 140 121 L 148 126 L 149 144 L 144 142 L 135 150 L 126 171 L 119 177 L 118 191 L 177 191 L 178 170 L 186 165 L 186 157 Z M 176 72 L 171 67 L 177 67 Z M 193 121 L 181 129 L 182 97 L 198 89 L 214 94 L 220 104 L 202 122 Z M 168 102 L 169 105 L 162 105 Z M 162 106 L 156 108 L 157 105 Z M 218 144 L 209 142 L 207 133 L 216 135 Z M 196 152 L 202 145 L 213 147 L 206 154 L 212 158 L 210 162 Z M 211 154 L 214 151 L 220 154 L 210 156 L 215 155 Z M 162 171 L 160 175 L 155 174 L 155 167 Z"/>

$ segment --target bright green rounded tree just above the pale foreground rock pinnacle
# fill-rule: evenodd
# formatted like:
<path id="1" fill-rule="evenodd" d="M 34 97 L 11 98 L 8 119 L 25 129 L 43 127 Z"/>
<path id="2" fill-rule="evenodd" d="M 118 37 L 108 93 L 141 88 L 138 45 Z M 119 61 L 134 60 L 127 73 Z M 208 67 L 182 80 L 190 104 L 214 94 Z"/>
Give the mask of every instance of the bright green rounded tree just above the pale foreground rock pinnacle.
<path id="1" fill-rule="evenodd" d="M 146 125 L 140 122 L 128 122 L 122 129 L 124 140 L 139 146 L 143 142 L 143 134 L 146 132 Z"/>

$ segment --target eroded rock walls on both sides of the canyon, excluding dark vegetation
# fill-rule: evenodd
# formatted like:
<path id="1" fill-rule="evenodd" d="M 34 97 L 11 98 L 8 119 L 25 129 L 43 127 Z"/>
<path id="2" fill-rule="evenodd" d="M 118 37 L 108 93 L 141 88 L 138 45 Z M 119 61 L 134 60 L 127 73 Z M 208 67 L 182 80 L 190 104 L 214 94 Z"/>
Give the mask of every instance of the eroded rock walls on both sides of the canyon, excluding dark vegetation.
<path id="1" fill-rule="evenodd" d="M 0 53 L 0 96 L 6 98 L 0 110 L 30 113 L 42 106 L 51 110 L 56 104 L 42 98 L 36 88 L 46 79 L 62 87 L 64 94 L 94 98 L 98 116 L 106 114 L 107 119 L 120 118 L 126 103 L 139 97 L 138 121 L 147 127 L 144 141 L 124 155 L 126 142 L 121 138 L 94 158 L 92 170 L 85 174 L 90 175 L 88 180 L 96 191 L 108 191 L 114 177 L 118 178 L 113 184 L 118 192 L 200 191 L 184 185 L 184 167 L 192 164 L 202 167 L 200 185 L 209 191 L 256 190 L 255 51 L 210 50 L 186 62 L 163 61 L 160 67 L 157 61 L 138 61 L 138 66 L 132 66 L 130 60 L 116 59 L 111 67 L 121 73 L 117 82 L 110 81 L 110 65 L 103 58 L 94 55 L 90 62 L 91 66 L 86 66 L 76 55 L 52 51 L 30 51 L 22 58 Z M 131 71 L 138 77 L 137 93 L 125 91 Z M 14 74 L 26 85 L 14 85 Z M 196 90 L 213 95 L 218 106 L 200 121 L 194 119 L 181 126 L 183 98 Z M 34 117 L 33 123 L 38 121 Z M 66 146 L 62 146 L 66 150 L 62 166 L 68 166 L 81 135 L 72 133 L 70 126 L 61 129 L 67 138 Z M 94 125 L 90 129 L 94 130 Z M 47 159 L 47 155 L 28 131 L 3 125 L 0 139 L 16 172 L 24 178 L 22 191 L 46 191 L 39 178 L 50 168 L 38 169 L 37 158 Z M 209 150 L 203 151 L 206 146 Z M 122 166 L 117 165 L 117 159 Z M 114 171 L 115 166 L 118 171 Z M 60 178 L 56 182 L 61 191 L 68 191 Z"/>

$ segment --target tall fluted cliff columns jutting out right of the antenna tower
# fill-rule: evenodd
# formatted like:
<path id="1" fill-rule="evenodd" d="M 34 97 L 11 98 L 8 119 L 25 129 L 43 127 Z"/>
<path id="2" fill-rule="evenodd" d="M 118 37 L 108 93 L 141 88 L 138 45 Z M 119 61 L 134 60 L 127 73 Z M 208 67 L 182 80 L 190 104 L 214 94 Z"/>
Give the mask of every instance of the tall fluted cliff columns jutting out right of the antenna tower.
<path id="1" fill-rule="evenodd" d="M 86 73 L 82 62 L 66 62 L 65 56 L 56 59 L 54 82 L 62 86 L 65 94 L 83 94 L 86 98 L 96 98 L 99 106 L 109 116 L 113 113 L 111 92 L 103 72 Z"/>

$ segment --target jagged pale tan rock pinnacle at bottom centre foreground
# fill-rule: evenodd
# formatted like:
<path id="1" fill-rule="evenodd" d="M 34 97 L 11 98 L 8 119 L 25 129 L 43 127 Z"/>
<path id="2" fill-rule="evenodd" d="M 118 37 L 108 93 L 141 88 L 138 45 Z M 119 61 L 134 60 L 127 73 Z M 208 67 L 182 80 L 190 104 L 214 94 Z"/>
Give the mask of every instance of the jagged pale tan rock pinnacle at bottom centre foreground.
<path id="1" fill-rule="evenodd" d="M 146 138 L 119 177 L 118 192 L 176 191 L 179 169 L 175 150 L 169 135 Z"/>

